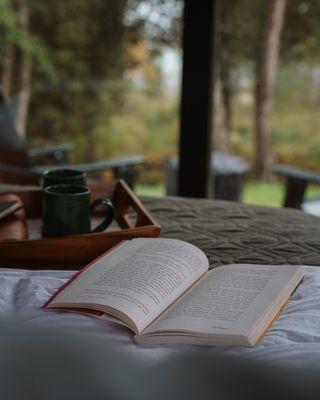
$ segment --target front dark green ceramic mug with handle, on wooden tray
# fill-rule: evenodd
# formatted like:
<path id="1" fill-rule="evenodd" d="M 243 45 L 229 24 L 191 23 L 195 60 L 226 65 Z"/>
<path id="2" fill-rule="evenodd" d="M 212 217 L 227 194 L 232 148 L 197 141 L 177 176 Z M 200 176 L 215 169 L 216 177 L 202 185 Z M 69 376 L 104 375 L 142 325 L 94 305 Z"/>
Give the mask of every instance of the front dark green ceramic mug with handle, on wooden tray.
<path id="1" fill-rule="evenodd" d="M 44 237 L 79 235 L 101 232 L 114 218 L 114 206 L 109 199 L 97 199 L 90 204 L 91 189 L 85 186 L 54 185 L 43 192 Z M 91 213 L 98 206 L 105 206 L 107 215 L 95 228 L 91 229 Z"/>

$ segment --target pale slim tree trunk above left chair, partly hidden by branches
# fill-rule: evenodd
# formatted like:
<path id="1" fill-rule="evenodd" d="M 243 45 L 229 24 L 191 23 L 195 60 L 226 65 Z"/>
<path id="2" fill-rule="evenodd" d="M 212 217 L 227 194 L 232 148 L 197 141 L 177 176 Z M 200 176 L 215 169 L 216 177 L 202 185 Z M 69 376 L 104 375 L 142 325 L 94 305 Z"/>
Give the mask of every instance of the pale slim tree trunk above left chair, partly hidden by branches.
<path id="1" fill-rule="evenodd" d="M 29 9 L 26 4 L 19 6 L 19 20 L 25 35 L 29 32 Z M 18 134 L 26 135 L 28 112 L 31 98 L 32 60 L 28 52 L 23 52 L 20 65 L 20 91 L 17 96 L 15 126 Z"/>

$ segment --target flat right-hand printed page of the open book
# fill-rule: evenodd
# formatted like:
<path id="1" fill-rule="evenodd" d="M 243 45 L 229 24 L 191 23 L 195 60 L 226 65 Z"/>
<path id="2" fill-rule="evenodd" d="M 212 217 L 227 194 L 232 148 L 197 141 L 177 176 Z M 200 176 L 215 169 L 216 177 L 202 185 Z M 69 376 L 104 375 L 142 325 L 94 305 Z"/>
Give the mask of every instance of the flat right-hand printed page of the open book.
<path id="1" fill-rule="evenodd" d="M 218 267 L 202 277 L 143 334 L 182 330 L 246 335 L 270 311 L 300 270 L 292 265 Z M 296 284 L 301 278 L 302 275 Z"/>

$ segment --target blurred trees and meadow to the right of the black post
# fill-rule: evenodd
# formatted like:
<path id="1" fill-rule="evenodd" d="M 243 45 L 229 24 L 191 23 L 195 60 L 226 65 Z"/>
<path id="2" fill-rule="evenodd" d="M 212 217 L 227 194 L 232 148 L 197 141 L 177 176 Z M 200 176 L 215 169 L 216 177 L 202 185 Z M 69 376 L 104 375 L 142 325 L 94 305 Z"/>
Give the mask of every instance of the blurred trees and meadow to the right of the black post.
<path id="1" fill-rule="evenodd" d="M 319 7 L 320 3 L 312 0 L 221 2 L 219 79 L 227 136 L 223 137 L 223 142 L 228 142 L 229 148 L 255 162 L 260 178 L 269 176 L 270 168 L 276 162 L 297 164 L 299 153 L 298 165 L 320 168 L 319 153 L 315 157 L 306 157 L 314 153 L 312 146 L 320 136 L 315 128 L 318 116 L 312 113 L 319 97 L 319 86 L 314 86 L 312 78 L 318 69 L 320 55 L 319 24 L 316 22 L 320 18 Z M 279 43 L 274 44 L 270 57 L 270 38 L 275 31 Z M 266 65 L 268 51 L 269 68 Z M 269 77 L 272 75 L 269 88 L 266 87 L 266 73 Z M 266 113 L 263 110 L 262 103 L 266 101 L 275 102 L 271 107 L 273 112 L 270 104 L 267 104 L 270 110 Z M 307 114 L 309 122 L 306 121 Z M 269 125 L 267 129 L 265 124 Z M 310 147 L 304 143 L 307 137 L 311 139 L 307 142 L 313 143 Z M 292 138 L 297 141 L 294 149 Z M 216 145 L 223 148 L 219 140 Z"/>

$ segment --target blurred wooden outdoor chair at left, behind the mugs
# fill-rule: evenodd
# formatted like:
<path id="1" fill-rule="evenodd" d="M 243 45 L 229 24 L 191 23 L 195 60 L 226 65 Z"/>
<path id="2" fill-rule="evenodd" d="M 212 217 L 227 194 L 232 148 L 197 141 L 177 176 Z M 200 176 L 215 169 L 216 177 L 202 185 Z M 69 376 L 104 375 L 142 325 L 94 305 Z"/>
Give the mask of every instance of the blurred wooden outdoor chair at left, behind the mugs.
<path id="1" fill-rule="evenodd" d="M 10 104 L 0 89 L 0 182 L 39 184 L 42 173 L 53 166 L 81 169 L 87 173 L 112 170 L 115 179 L 124 179 L 134 186 L 139 174 L 141 156 L 121 157 L 94 163 L 69 164 L 73 149 L 69 143 L 46 148 L 28 149 L 15 129 Z"/>

